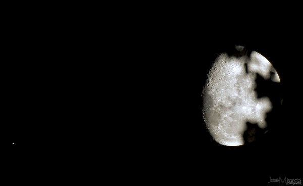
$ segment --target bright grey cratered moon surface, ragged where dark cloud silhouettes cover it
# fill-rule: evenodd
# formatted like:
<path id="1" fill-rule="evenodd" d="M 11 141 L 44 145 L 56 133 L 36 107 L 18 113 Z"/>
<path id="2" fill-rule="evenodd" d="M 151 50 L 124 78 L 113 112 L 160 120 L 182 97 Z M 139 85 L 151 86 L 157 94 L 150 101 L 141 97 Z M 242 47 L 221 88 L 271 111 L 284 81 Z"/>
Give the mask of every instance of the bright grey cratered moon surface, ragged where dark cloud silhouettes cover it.
<path id="1" fill-rule="evenodd" d="M 243 46 L 235 49 L 239 55 L 222 53 L 217 57 L 202 94 L 206 127 L 216 142 L 226 146 L 244 145 L 247 122 L 260 129 L 267 127 L 265 118 L 273 105 L 268 97 L 257 97 L 257 74 L 264 80 L 280 83 L 276 70 L 265 57 L 256 51 L 248 55 Z M 251 135 L 254 133 L 255 130 L 249 131 Z"/>

